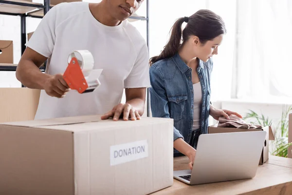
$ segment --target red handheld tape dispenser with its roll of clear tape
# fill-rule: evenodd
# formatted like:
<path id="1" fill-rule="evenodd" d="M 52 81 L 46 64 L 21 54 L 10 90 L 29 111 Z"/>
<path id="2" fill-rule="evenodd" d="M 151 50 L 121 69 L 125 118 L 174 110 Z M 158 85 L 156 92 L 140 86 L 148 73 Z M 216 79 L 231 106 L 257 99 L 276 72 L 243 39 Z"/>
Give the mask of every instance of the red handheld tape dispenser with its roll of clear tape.
<path id="1" fill-rule="evenodd" d="M 68 86 L 79 94 L 93 92 L 100 86 L 102 69 L 94 69 L 94 60 L 88 50 L 76 50 L 69 55 L 68 67 L 63 78 Z"/>

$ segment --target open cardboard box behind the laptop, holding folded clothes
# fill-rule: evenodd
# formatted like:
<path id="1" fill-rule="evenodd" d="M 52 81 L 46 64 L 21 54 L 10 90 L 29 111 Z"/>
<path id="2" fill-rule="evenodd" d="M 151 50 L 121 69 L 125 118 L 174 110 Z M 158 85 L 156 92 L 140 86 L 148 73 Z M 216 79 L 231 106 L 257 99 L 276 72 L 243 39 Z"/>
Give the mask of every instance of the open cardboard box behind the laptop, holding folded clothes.
<path id="1" fill-rule="evenodd" d="M 269 159 L 269 126 L 264 127 L 263 129 L 237 129 L 237 128 L 224 128 L 218 127 L 218 123 L 208 127 L 208 134 L 216 133 L 232 133 L 232 132 L 243 132 L 243 131 L 265 131 L 266 140 L 263 144 L 262 155 L 259 159 L 259 164 L 264 164 Z"/>

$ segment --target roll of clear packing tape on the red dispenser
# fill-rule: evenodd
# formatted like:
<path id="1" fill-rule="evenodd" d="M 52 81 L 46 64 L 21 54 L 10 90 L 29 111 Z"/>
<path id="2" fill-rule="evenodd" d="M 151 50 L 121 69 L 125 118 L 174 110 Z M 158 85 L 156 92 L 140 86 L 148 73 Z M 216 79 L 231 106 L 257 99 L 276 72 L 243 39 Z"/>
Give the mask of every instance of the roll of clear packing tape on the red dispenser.
<path id="1" fill-rule="evenodd" d="M 93 69 L 94 59 L 90 51 L 88 50 L 75 50 L 73 51 L 68 58 L 68 63 L 70 63 L 72 58 L 76 58 L 80 65 L 80 69 L 82 70 L 84 76 Z"/>

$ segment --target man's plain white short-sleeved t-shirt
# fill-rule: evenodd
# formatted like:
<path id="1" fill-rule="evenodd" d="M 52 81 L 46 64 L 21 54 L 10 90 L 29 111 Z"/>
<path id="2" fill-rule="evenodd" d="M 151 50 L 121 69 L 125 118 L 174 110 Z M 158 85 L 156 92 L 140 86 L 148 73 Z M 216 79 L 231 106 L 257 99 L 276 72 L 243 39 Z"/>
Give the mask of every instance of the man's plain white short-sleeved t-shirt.
<path id="1" fill-rule="evenodd" d="M 26 46 L 49 58 L 50 75 L 65 72 L 73 50 L 89 50 L 93 69 L 103 69 L 94 92 L 71 90 L 64 98 L 55 98 L 41 90 L 35 119 L 104 114 L 121 102 L 124 88 L 150 87 L 145 39 L 127 20 L 117 26 L 100 23 L 88 2 L 54 6 Z"/>

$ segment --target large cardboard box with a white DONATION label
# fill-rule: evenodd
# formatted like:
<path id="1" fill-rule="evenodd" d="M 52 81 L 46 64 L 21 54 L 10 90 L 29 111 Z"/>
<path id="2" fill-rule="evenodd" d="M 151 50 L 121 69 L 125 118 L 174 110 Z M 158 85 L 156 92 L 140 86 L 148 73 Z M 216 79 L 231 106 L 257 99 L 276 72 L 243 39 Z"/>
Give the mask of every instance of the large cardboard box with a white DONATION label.
<path id="1" fill-rule="evenodd" d="M 173 184 L 173 120 L 0 124 L 1 195 L 142 195 Z"/>

